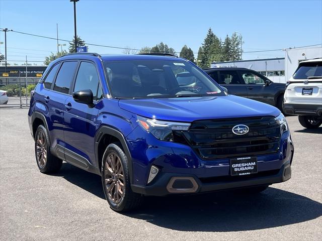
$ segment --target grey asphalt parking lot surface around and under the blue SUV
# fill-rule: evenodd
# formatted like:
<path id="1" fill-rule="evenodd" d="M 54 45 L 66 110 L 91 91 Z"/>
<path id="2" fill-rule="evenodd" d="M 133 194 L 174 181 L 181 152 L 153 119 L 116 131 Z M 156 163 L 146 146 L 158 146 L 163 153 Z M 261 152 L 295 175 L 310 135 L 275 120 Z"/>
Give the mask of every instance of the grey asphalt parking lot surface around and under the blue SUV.
<path id="1" fill-rule="evenodd" d="M 55 175 L 38 171 L 27 112 L 0 109 L 1 240 L 321 240 L 322 127 L 287 117 L 292 178 L 259 195 L 149 197 L 119 214 L 99 176 L 67 163 Z"/>

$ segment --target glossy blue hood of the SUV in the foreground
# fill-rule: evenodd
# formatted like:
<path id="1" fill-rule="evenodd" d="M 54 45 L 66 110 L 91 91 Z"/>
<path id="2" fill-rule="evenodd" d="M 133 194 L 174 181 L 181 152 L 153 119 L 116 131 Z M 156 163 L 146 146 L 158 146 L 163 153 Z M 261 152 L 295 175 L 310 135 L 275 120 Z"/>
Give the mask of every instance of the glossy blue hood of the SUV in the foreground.
<path id="1" fill-rule="evenodd" d="M 119 106 L 144 117 L 177 122 L 280 114 L 274 106 L 235 95 L 120 99 Z"/>

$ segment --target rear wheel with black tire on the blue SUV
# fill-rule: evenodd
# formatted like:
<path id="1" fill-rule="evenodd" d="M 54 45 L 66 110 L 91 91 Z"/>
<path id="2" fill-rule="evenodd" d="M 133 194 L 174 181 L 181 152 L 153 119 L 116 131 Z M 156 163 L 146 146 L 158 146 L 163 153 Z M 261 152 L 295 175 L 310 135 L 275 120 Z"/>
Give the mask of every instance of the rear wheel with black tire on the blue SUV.
<path id="1" fill-rule="evenodd" d="M 62 160 L 51 154 L 48 132 L 42 125 L 35 134 L 35 155 L 40 172 L 55 173 L 61 168 Z"/>

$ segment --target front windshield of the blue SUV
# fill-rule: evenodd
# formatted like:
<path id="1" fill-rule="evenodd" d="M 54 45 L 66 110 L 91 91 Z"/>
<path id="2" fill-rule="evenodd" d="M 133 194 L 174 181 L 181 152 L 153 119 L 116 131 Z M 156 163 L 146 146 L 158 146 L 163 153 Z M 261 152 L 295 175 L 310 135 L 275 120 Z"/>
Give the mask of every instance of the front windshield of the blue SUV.
<path id="1" fill-rule="evenodd" d="M 202 71 L 187 61 L 105 61 L 115 98 L 163 98 L 225 95 Z"/>

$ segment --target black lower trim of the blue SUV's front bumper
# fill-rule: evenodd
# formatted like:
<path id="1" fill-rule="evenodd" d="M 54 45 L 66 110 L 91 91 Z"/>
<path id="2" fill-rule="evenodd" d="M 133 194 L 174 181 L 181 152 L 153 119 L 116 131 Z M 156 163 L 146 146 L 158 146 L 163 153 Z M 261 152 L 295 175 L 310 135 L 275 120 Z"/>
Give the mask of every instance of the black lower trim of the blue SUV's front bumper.
<path id="1" fill-rule="evenodd" d="M 291 157 L 292 158 L 292 157 Z M 176 183 L 174 180 L 191 180 Z M 151 196 L 166 196 L 174 193 L 202 193 L 219 190 L 244 188 L 252 186 L 270 185 L 285 182 L 291 178 L 291 160 L 285 163 L 281 169 L 257 173 L 250 176 L 223 176 L 215 178 L 198 178 L 195 175 L 179 173 L 162 173 L 157 182 L 149 186 L 131 185 L 133 192 Z"/>

